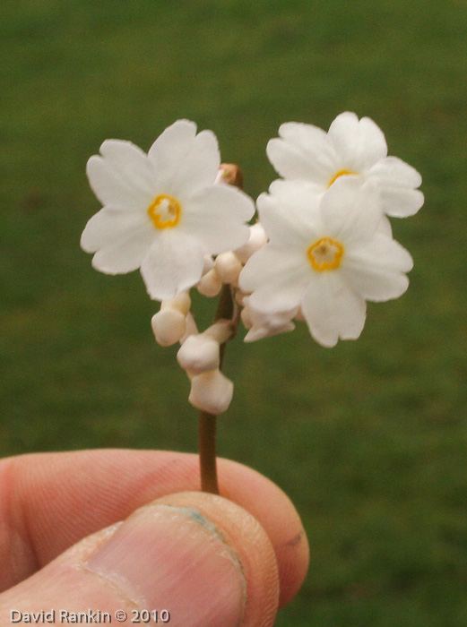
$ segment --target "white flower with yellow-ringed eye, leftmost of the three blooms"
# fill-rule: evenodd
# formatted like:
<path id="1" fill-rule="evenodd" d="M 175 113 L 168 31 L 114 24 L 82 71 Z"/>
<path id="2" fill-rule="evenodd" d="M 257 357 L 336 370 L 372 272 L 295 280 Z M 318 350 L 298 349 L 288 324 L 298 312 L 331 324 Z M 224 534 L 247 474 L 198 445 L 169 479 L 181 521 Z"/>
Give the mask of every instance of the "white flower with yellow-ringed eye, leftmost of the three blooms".
<path id="1" fill-rule="evenodd" d="M 92 264 L 107 274 L 141 268 L 151 298 L 165 300 L 202 277 L 205 254 L 247 241 L 254 204 L 237 188 L 217 184 L 221 158 L 211 131 L 178 120 L 146 155 L 131 142 L 108 140 L 88 161 L 103 209 L 82 234 Z"/>

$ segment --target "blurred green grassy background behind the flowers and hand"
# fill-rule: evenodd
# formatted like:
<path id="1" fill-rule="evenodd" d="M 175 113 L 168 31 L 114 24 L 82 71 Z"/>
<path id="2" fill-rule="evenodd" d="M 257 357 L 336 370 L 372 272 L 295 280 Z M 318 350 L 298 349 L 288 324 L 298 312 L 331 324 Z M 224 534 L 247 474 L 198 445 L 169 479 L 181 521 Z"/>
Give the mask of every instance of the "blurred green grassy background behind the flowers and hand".
<path id="1" fill-rule="evenodd" d="M 463 627 L 467 3 L 4 0 L 0 40 L 2 454 L 196 450 L 157 304 L 79 246 L 104 139 L 147 150 L 193 119 L 256 197 L 282 122 L 370 116 L 424 178 L 424 208 L 393 220 L 411 288 L 332 350 L 303 325 L 229 346 L 219 451 L 272 477 L 307 528 L 310 571 L 278 625 Z"/>

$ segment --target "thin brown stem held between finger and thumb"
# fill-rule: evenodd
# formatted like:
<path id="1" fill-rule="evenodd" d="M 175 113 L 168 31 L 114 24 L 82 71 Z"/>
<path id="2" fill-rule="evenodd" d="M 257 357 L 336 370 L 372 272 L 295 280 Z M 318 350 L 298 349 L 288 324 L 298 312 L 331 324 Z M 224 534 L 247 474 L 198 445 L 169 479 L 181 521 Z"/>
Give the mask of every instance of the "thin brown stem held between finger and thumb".
<path id="1" fill-rule="evenodd" d="M 232 291 L 229 285 L 222 286 L 219 305 L 213 322 L 232 320 L 235 311 Z M 221 344 L 221 368 L 227 342 Z M 200 411 L 199 415 L 199 457 L 201 473 L 201 489 L 203 492 L 219 494 L 216 465 L 216 427 L 217 417 Z"/>

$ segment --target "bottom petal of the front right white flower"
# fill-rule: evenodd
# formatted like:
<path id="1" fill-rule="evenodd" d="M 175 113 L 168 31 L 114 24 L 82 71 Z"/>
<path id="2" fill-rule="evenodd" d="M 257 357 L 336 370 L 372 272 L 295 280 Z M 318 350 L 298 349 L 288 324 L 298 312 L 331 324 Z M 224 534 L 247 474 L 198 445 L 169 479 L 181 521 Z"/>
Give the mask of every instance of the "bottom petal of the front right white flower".
<path id="1" fill-rule="evenodd" d="M 303 296 L 302 312 L 313 338 L 324 347 L 338 339 L 357 339 L 365 325 L 367 305 L 338 272 L 322 272 Z"/>

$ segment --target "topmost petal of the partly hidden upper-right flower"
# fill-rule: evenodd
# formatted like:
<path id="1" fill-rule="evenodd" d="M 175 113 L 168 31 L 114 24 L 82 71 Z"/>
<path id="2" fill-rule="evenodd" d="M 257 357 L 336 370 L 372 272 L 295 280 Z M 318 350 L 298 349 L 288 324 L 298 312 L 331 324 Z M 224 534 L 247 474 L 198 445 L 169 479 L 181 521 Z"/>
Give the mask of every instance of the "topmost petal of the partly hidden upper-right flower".
<path id="1" fill-rule="evenodd" d="M 369 117 L 349 111 L 337 116 L 329 127 L 328 135 L 342 159 L 342 168 L 362 172 L 387 155 L 383 131 Z"/>

